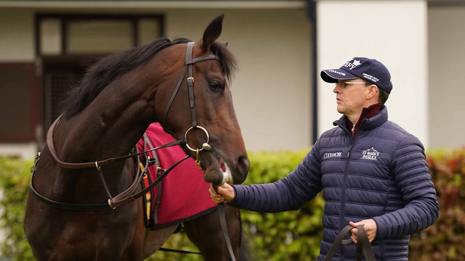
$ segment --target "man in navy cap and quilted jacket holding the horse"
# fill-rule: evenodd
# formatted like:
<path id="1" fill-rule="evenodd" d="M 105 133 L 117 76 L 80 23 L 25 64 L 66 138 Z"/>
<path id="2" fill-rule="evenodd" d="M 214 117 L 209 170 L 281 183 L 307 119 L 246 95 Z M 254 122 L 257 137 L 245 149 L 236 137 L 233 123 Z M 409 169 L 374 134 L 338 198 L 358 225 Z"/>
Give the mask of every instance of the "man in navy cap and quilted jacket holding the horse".
<path id="1" fill-rule="evenodd" d="M 434 185 L 424 148 L 415 136 L 388 121 L 384 106 L 391 75 L 379 61 L 355 57 L 339 69 L 323 70 L 335 83 L 341 119 L 324 132 L 285 178 L 269 184 L 211 187 L 215 202 L 260 212 L 297 210 L 323 189 L 326 200 L 322 261 L 347 224 L 364 224 L 377 260 L 406 261 L 411 234 L 438 217 Z M 352 241 L 357 230 L 352 229 Z M 341 246 L 334 260 L 354 260 L 353 244 Z"/>

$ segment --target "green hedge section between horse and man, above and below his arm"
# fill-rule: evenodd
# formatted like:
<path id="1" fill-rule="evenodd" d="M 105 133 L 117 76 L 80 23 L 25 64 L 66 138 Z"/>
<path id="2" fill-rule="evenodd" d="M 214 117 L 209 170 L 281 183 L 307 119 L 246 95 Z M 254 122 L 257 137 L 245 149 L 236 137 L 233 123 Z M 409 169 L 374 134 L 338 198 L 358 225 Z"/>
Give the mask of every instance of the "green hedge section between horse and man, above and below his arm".
<path id="1" fill-rule="evenodd" d="M 270 183 L 285 177 L 308 150 L 250 154 L 246 184 Z M 251 260 L 316 260 L 323 235 L 324 200 L 321 193 L 299 211 L 259 213 L 242 210 L 244 234 Z"/>

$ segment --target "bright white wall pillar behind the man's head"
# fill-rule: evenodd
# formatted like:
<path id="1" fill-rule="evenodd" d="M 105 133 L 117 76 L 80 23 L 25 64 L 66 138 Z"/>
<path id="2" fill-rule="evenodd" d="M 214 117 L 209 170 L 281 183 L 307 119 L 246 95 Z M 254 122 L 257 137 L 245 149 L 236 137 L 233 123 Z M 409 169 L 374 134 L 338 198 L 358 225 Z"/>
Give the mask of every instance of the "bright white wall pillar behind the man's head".
<path id="1" fill-rule="evenodd" d="M 426 0 L 317 1 L 318 70 L 355 56 L 375 58 L 390 71 L 389 119 L 428 147 Z M 318 134 L 340 118 L 332 84 L 318 78 Z"/>

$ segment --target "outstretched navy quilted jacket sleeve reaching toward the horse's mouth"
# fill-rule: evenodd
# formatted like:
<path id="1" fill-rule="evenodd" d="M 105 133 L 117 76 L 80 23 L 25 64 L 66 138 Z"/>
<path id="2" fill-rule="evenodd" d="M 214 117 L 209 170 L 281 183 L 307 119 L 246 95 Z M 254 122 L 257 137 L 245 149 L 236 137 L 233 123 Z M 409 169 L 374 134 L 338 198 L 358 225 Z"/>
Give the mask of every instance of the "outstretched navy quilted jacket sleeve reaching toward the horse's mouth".
<path id="1" fill-rule="evenodd" d="M 259 212 L 300 209 L 321 190 L 318 142 L 293 172 L 274 183 L 234 185 L 229 205 Z"/>

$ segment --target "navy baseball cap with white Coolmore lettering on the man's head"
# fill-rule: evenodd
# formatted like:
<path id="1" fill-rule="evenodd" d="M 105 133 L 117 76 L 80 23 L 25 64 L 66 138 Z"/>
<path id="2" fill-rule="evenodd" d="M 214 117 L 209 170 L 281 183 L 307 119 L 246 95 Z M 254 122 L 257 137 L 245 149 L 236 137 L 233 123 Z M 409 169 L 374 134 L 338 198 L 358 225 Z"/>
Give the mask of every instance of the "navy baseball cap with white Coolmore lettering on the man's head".
<path id="1" fill-rule="evenodd" d="M 354 57 L 339 69 L 322 70 L 321 78 L 326 82 L 337 83 L 338 80 L 366 79 L 379 88 L 391 93 L 391 74 L 386 66 L 375 59 Z"/>

